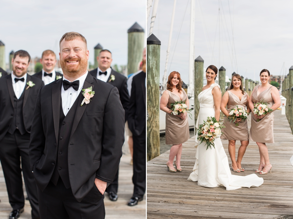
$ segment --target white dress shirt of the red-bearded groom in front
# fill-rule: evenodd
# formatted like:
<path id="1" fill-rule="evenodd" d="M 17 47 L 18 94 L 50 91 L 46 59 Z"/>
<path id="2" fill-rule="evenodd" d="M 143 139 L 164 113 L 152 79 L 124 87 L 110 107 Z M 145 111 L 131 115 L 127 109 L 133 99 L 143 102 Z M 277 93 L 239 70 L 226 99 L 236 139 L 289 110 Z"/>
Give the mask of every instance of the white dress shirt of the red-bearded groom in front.
<path id="1" fill-rule="evenodd" d="M 79 87 L 77 91 L 74 90 L 72 87 L 68 88 L 67 90 L 64 90 L 63 84 L 62 84 L 62 87 L 61 87 L 62 109 L 65 116 L 67 115 L 68 111 L 74 104 L 74 101 L 76 100 L 76 98 L 79 96 L 80 91 L 83 89 L 83 84 L 84 84 L 84 81 L 86 80 L 87 75 L 88 75 L 88 71 L 83 76 L 75 79 L 75 80 L 79 80 Z M 63 80 L 67 80 L 67 79 L 63 77 Z M 73 81 L 69 81 L 69 82 L 73 82 Z M 78 104 L 80 105 L 81 102 Z"/>

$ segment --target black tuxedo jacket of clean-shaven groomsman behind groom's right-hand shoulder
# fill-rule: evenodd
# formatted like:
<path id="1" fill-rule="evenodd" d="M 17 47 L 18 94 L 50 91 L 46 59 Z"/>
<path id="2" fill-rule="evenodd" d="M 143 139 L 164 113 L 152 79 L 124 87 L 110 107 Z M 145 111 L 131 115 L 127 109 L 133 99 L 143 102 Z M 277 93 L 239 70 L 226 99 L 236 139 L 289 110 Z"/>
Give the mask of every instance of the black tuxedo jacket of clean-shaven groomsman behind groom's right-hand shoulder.
<path id="1" fill-rule="evenodd" d="M 112 69 L 112 68 L 111 68 Z M 97 77 L 97 68 L 89 72 L 93 77 Z M 111 79 L 111 75 L 115 76 L 114 81 L 109 81 Z M 113 69 L 111 70 L 111 75 L 109 76 L 107 83 L 117 87 L 120 95 L 120 101 L 125 110 L 125 121 L 127 120 L 128 115 L 128 106 L 129 106 L 129 94 L 127 90 L 127 77 L 120 74 L 119 72 L 115 72 Z"/>

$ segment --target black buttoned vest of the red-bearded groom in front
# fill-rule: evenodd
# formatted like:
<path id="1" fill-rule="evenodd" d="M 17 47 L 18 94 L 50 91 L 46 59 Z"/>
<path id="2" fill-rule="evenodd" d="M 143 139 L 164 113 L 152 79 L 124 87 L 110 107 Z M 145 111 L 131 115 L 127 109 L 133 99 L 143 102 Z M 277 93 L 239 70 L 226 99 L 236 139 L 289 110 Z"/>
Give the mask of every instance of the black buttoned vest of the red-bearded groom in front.
<path id="1" fill-rule="evenodd" d="M 70 188 L 69 173 L 68 173 L 68 144 L 72 130 L 72 124 L 76 112 L 79 97 L 76 98 L 74 104 L 65 116 L 62 109 L 62 98 L 60 103 L 60 118 L 59 118 L 59 134 L 58 134 L 58 148 L 57 159 L 51 181 L 57 185 L 59 176 L 61 177 L 65 188 Z"/>

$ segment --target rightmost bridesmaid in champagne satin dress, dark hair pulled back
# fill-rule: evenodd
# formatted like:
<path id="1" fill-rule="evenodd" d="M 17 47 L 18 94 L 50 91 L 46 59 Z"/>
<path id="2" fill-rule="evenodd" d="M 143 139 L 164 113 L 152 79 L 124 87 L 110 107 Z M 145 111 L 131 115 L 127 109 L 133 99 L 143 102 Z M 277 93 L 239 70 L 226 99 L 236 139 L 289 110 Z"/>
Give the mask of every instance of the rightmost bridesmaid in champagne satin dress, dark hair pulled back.
<path id="1" fill-rule="evenodd" d="M 270 72 L 263 69 L 260 72 L 261 85 L 255 86 L 251 98 L 249 100 L 249 107 L 254 108 L 254 103 L 267 102 L 268 107 L 276 110 L 281 105 L 280 95 L 278 89 L 268 83 L 270 79 Z M 260 119 L 260 121 L 257 121 Z M 260 165 L 255 171 L 260 174 L 267 174 L 271 170 L 272 165 L 268 157 L 268 147 L 265 143 L 274 143 L 273 134 L 274 113 L 267 115 L 256 115 L 251 112 L 251 128 L 249 132 L 249 140 L 255 141 L 260 151 Z"/>

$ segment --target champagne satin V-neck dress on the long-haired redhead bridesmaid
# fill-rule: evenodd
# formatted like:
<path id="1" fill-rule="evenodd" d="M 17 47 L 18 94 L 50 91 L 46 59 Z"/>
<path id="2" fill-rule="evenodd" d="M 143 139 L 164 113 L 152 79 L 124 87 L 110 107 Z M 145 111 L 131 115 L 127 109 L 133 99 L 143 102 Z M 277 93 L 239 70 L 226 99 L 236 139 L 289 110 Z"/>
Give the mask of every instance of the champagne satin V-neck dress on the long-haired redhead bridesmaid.
<path id="1" fill-rule="evenodd" d="M 173 94 L 169 90 L 169 101 L 167 104 L 167 108 L 171 109 L 170 104 L 175 103 L 176 101 L 181 101 L 179 96 Z M 182 89 L 183 98 L 182 101 L 187 100 L 187 94 Z M 188 118 L 182 120 L 180 117 L 176 115 L 171 115 L 166 113 L 166 144 L 167 145 L 177 145 L 186 142 L 189 139 L 189 125 Z"/>

